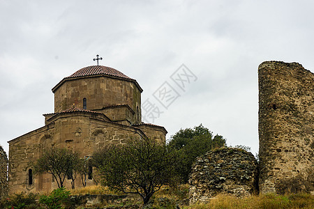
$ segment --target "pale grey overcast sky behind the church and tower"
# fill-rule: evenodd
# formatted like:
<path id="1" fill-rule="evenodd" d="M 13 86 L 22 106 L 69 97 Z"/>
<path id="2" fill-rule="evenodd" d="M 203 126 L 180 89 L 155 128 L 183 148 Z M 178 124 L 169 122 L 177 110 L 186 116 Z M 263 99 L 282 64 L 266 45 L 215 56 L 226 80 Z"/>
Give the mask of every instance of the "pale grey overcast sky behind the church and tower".
<path id="1" fill-rule="evenodd" d="M 202 123 L 255 154 L 258 65 L 298 62 L 313 72 L 313 8 L 287 0 L 0 0 L 0 144 L 8 152 L 7 141 L 42 127 L 42 114 L 54 112 L 52 87 L 100 54 L 100 65 L 137 80 L 142 103 L 160 111 L 147 122 L 163 125 L 167 139 Z M 184 78 L 182 64 L 190 80 L 179 88 L 172 78 Z M 165 85 L 176 92 L 167 104 L 156 96 Z"/>

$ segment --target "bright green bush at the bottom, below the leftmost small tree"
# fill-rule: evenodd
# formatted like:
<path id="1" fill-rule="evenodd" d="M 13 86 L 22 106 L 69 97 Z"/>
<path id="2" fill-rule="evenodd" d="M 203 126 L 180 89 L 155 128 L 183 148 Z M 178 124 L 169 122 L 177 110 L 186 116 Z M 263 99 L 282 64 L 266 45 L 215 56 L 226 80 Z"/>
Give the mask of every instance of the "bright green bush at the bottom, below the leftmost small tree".
<path id="1" fill-rule="evenodd" d="M 40 196 L 39 202 L 43 203 L 46 208 L 59 209 L 69 198 L 69 195 L 70 191 L 66 190 L 64 187 L 61 187 L 59 189 L 54 189 L 49 196 Z"/>

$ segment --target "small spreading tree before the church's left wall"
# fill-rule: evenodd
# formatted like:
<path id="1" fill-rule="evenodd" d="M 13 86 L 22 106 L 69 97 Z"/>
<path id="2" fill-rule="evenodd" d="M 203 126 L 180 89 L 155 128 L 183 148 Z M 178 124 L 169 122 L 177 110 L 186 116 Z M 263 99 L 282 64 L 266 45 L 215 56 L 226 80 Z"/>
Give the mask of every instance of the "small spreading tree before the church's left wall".
<path id="1" fill-rule="evenodd" d="M 77 151 L 66 148 L 49 148 L 45 150 L 35 164 L 33 164 L 35 173 L 50 173 L 57 180 L 59 188 L 63 187 L 66 176 L 73 180 L 73 171 L 79 168 L 80 155 Z M 74 183 L 73 183 L 74 187 Z"/>

